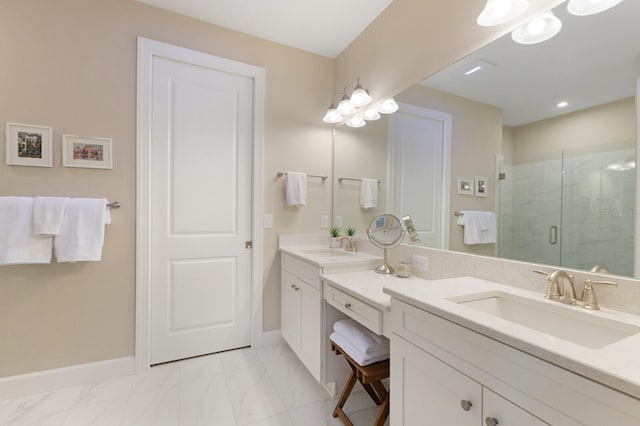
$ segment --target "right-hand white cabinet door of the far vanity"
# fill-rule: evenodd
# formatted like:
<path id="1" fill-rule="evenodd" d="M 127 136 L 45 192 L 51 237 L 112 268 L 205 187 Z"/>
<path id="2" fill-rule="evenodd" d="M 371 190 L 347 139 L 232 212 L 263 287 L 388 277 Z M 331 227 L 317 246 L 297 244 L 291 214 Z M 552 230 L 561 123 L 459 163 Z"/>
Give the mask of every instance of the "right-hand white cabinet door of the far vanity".
<path id="1" fill-rule="evenodd" d="M 320 381 L 322 365 L 322 294 L 320 290 L 298 281 L 300 287 L 300 359 Z"/>

